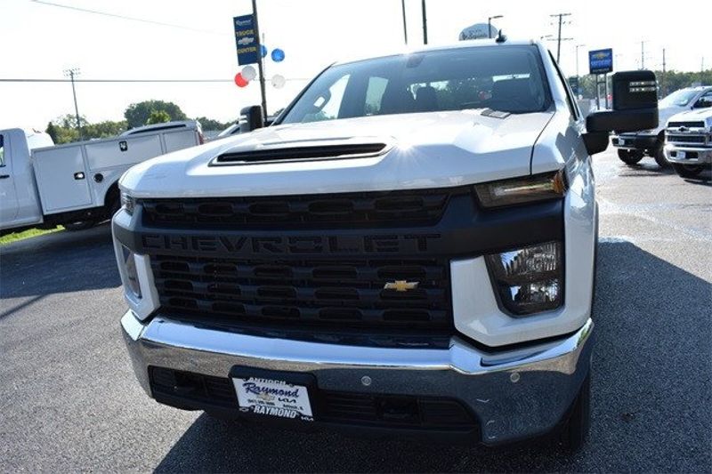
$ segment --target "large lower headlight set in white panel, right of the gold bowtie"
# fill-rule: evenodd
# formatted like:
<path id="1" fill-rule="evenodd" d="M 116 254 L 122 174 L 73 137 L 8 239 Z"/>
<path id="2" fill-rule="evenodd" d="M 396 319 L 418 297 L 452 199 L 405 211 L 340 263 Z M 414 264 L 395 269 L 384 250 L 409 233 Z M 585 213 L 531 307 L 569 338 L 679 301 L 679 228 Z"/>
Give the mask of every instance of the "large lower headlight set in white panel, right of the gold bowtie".
<path id="1" fill-rule="evenodd" d="M 514 316 L 556 309 L 563 301 L 562 244 L 548 242 L 486 255 L 499 301 Z"/>

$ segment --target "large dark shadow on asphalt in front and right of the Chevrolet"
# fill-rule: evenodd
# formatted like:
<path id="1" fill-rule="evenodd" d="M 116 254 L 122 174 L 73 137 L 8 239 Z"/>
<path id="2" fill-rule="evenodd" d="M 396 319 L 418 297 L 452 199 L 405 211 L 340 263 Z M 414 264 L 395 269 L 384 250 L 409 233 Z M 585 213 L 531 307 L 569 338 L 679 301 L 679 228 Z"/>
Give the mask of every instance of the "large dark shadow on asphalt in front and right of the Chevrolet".
<path id="1" fill-rule="evenodd" d="M 599 247 L 593 423 L 578 454 L 346 438 L 198 417 L 157 471 L 700 471 L 712 286 L 627 242 Z"/>

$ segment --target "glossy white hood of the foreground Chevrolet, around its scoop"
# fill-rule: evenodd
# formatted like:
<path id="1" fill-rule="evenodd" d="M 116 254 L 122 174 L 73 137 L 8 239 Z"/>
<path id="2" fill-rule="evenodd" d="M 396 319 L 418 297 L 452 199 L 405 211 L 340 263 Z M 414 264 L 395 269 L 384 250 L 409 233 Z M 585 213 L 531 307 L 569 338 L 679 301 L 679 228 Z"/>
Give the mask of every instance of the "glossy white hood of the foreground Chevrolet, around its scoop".
<path id="1" fill-rule="evenodd" d="M 277 125 L 148 160 L 126 172 L 120 185 L 134 197 L 226 197 L 494 181 L 530 174 L 532 147 L 553 115 L 497 118 L 463 110 Z M 214 165 L 216 157 L 235 150 L 353 141 L 385 143 L 387 151 L 376 157 Z"/>

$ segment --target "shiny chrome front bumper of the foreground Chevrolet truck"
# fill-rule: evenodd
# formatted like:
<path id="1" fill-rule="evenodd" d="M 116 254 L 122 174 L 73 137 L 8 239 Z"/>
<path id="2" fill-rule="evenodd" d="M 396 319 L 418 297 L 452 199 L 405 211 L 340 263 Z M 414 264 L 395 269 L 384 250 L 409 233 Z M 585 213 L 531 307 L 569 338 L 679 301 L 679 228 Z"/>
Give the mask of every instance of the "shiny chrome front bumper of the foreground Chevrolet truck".
<path id="1" fill-rule="evenodd" d="M 554 429 L 588 374 L 593 344 L 590 319 L 560 340 L 492 353 L 457 337 L 449 349 L 354 347 L 230 333 L 162 316 L 144 323 L 132 311 L 121 325 L 149 395 L 149 366 L 217 377 L 228 377 L 234 366 L 310 373 L 321 390 L 457 398 L 477 416 L 486 445 Z"/>

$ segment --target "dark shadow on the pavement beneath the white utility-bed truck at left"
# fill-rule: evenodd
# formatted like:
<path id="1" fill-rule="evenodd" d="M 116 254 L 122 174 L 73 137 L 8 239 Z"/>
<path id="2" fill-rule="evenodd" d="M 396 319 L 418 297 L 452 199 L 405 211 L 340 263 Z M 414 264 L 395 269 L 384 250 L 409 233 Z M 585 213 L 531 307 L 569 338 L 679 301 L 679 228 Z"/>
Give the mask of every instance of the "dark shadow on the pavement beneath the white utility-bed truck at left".
<path id="1" fill-rule="evenodd" d="M 108 223 L 77 232 L 53 232 L 0 247 L 0 298 L 118 285 L 121 279 Z M 5 305 L 0 307 L 0 314 L 8 312 Z"/>

